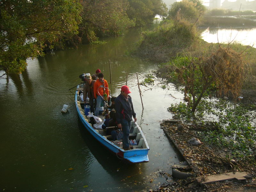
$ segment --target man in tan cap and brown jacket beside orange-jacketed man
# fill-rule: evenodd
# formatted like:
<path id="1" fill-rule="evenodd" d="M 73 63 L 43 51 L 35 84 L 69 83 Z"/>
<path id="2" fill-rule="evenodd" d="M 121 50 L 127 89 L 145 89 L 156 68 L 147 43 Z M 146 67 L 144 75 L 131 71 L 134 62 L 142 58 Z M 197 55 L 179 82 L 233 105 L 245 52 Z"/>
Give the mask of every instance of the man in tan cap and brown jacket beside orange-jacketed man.
<path id="1" fill-rule="evenodd" d="M 94 100 L 96 104 L 96 99 L 94 98 L 94 93 L 93 93 L 93 86 L 96 81 L 92 80 L 91 76 L 86 76 L 86 83 L 84 84 L 84 101 L 86 101 L 86 97 L 89 98 L 89 104 L 91 106 L 91 113 L 94 113 Z"/>

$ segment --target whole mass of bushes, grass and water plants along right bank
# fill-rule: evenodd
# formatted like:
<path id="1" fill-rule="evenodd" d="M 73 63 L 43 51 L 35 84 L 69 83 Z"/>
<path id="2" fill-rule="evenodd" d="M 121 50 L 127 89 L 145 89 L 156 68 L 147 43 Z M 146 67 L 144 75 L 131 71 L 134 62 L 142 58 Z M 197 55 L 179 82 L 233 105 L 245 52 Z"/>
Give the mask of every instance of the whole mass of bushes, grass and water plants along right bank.
<path id="1" fill-rule="evenodd" d="M 173 118 L 193 122 L 204 142 L 227 148 L 231 157 L 253 162 L 256 132 L 249 110 L 255 105 L 242 105 L 238 96 L 242 89 L 256 88 L 255 48 L 204 42 L 196 26 L 204 22 L 205 10 L 196 5 L 189 0 L 174 3 L 165 20 L 143 33 L 136 53 L 163 62 L 157 76 L 184 92 L 185 102 L 169 108 Z M 240 104 L 216 99 L 223 96 Z"/>

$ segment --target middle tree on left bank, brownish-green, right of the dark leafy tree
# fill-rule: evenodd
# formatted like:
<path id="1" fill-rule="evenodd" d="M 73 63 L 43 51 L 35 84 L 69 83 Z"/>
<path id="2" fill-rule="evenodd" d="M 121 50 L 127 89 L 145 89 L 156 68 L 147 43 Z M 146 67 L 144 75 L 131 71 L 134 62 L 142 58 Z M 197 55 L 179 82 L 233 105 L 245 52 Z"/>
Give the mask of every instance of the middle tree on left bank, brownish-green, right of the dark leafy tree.
<path id="1" fill-rule="evenodd" d="M 79 36 L 89 42 L 98 39 L 97 33 L 116 34 L 121 29 L 133 27 L 134 21 L 126 14 L 127 1 L 120 0 L 87 0 L 83 6 L 82 23 L 79 25 Z"/>

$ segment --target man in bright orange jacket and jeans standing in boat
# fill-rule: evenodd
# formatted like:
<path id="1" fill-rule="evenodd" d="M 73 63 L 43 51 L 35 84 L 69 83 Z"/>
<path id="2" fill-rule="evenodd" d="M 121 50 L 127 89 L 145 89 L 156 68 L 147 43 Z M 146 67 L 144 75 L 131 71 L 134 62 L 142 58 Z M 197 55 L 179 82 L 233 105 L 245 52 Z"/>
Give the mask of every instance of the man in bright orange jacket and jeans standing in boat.
<path id="1" fill-rule="evenodd" d="M 109 96 L 108 82 L 104 79 L 104 75 L 102 73 L 99 73 L 98 77 L 99 79 L 97 79 L 93 86 L 94 98 L 96 98 L 97 100 L 95 116 L 99 116 L 100 104 L 103 101 L 103 98 L 104 100 L 108 100 Z"/>

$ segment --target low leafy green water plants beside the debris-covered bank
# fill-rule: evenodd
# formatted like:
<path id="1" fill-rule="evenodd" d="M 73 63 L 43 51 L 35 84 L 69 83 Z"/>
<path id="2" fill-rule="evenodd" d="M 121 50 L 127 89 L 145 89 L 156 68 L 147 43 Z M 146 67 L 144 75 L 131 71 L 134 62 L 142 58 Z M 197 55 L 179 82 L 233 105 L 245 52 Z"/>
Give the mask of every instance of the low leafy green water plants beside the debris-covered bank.
<path id="1" fill-rule="evenodd" d="M 252 149 L 256 147 L 256 129 L 251 124 L 255 111 L 250 112 L 245 106 L 225 100 L 203 100 L 195 114 L 184 103 L 172 105 L 169 111 L 174 118 L 191 121 L 201 127 L 202 141 L 227 148 L 236 158 L 252 157 Z M 254 106 L 255 108 L 255 106 Z M 215 117 L 217 121 L 212 121 Z M 201 119 L 206 120 L 202 121 Z"/>

